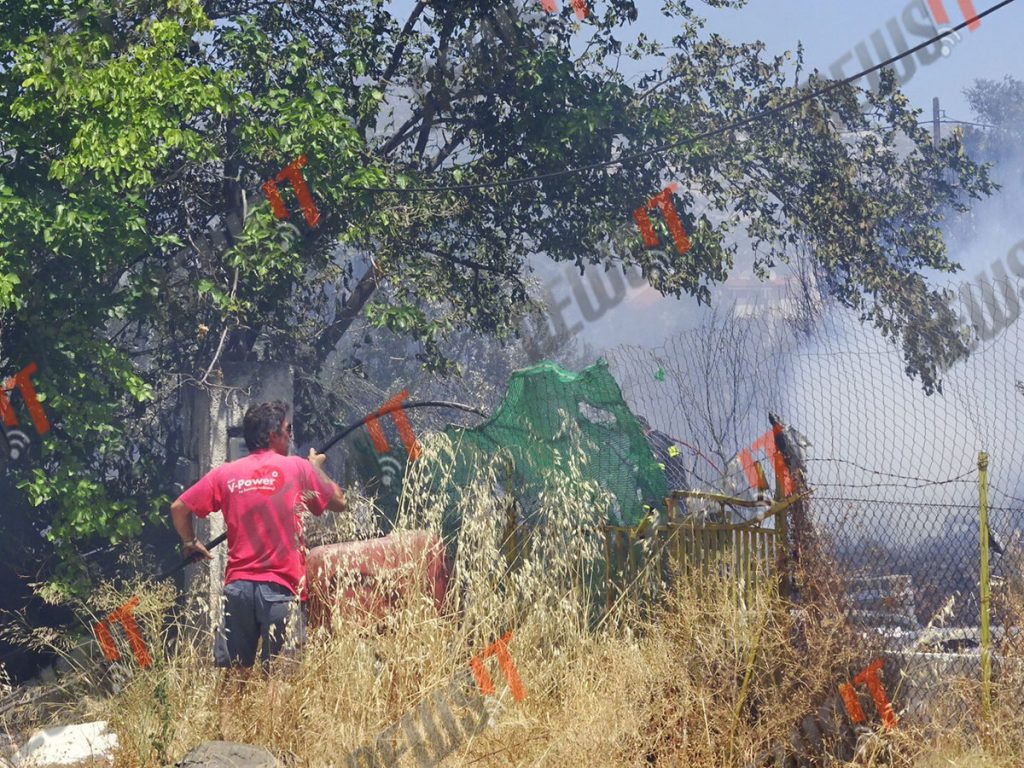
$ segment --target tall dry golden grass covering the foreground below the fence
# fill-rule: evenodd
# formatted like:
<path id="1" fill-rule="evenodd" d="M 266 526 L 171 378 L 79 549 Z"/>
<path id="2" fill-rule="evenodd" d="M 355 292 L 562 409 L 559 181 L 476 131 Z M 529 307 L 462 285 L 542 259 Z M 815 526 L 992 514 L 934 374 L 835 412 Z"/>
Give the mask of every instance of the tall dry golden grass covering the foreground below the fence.
<path id="1" fill-rule="evenodd" d="M 254 678 L 232 697 L 211 667 L 209 637 L 177 631 L 194 621 L 178 614 L 169 623 L 170 596 L 136 586 L 143 633 L 160 633 L 166 652 L 120 692 L 85 708 L 117 731 L 117 765 L 172 764 L 217 738 L 264 745 L 289 765 L 345 765 L 349 752 L 511 629 L 526 698 L 512 700 L 490 659 L 498 692 L 488 699 L 490 726 L 446 765 L 745 766 L 872 657 L 838 618 L 839 606 L 794 611 L 770 588 L 740 597 L 733 581 L 715 577 L 677 573 L 653 612 L 637 610 L 627 595 L 595 622 L 587 575 L 600 557 L 594 523 L 604 519 L 607 500 L 583 480 L 575 460 L 565 458 L 545 494 L 545 536 L 535 536 L 528 555 L 509 569 L 500 465 L 452 488 L 437 484 L 452 446 L 439 438 L 425 449 L 428 461 L 408 480 L 399 525 L 438 530 L 445 505 L 460 509 L 451 612 L 437 616 L 427 600 L 414 600 L 382 634 L 339 622 L 332 634 L 310 636 L 290 674 Z M 100 608 L 126 597 L 104 594 Z M 864 729 L 855 764 L 1024 765 L 1018 681 L 1007 681 L 987 731 L 971 725 L 976 711 L 959 710 L 962 721 L 941 730 L 904 718 L 891 731 Z M 877 725 L 869 703 L 865 712 Z M 412 754 L 399 764 L 415 765 Z"/>

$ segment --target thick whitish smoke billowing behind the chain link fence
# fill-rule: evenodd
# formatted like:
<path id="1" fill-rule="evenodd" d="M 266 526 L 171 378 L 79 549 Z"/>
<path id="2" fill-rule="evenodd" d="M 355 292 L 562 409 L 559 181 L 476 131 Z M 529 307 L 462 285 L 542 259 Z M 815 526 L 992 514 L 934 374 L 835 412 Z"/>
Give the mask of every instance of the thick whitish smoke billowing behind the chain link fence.
<path id="1" fill-rule="evenodd" d="M 761 313 L 733 305 L 718 315 L 741 333 L 714 330 L 705 313 L 696 329 L 668 341 L 644 343 L 648 332 L 610 350 L 627 399 L 655 428 L 718 458 L 750 445 L 767 429 L 768 412 L 778 413 L 813 445 L 808 473 L 817 509 L 844 541 L 888 537 L 913 547 L 955 534 L 957 546 L 976 550 L 977 542 L 964 538 L 971 526 L 959 522 L 977 518 L 978 454 L 986 452 L 991 504 L 1004 510 L 993 515 L 1002 525 L 995 529 L 1008 535 L 1009 510 L 1024 499 L 1024 450 L 1016 439 L 1024 416 L 1017 386 L 1024 379 L 1024 224 L 1017 215 L 1024 157 L 1013 146 L 992 171 L 1001 189 L 947 220 L 945 239 L 966 269 L 953 281 L 930 275 L 951 289 L 979 339 L 945 371 L 941 392 L 925 394 L 907 376 L 902 350 L 852 312 L 833 306 L 808 329 L 771 300 Z M 624 322 L 617 311 L 607 313 L 610 322 Z M 740 337 L 742 344 L 734 341 Z M 668 372 L 665 382 L 652 377 L 659 369 Z"/>

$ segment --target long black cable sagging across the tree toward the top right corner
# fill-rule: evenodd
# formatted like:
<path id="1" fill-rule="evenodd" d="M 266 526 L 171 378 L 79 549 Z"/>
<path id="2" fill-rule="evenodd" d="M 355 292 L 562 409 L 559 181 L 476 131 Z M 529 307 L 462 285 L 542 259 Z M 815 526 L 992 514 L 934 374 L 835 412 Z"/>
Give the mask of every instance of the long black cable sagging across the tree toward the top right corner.
<path id="1" fill-rule="evenodd" d="M 712 129 L 710 131 L 707 131 L 705 133 L 699 133 L 699 134 L 697 134 L 695 136 L 690 136 L 688 138 L 679 139 L 678 141 L 671 141 L 671 142 L 669 142 L 667 144 L 662 144 L 660 146 L 655 146 L 655 147 L 652 147 L 650 150 L 646 150 L 646 151 L 643 151 L 643 152 L 634 153 L 632 155 L 624 155 L 624 156 L 622 156 L 620 158 L 616 158 L 615 160 L 605 160 L 605 161 L 601 161 L 599 163 L 588 163 L 587 165 L 575 166 L 573 168 L 563 168 L 563 169 L 558 170 L 558 171 L 549 171 L 547 173 L 537 173 L 537 174 L 534 174 L 531 176 L 521 176 L 521 177 L 510 178 L 510 179 L 497 179 L 497 180 L 493 180 L 493 181 L 477 181 L 477 182 L 474 182 L 474 183 L 471 183 L 471 184 L 450 184 L 450 185 L 437 185 L 437 186 L 404 186 L 404 187 L 402 187 L 402 186 L 345 186 L 345 187 L 342 187 L 342 188 L 348 189 L 348 190 L 352 190 L 352 191 L 370 191 L 370 193 L 444 193 L 444 191 L 468 191 L 470 189 L 486 189 L 486 188 L 495 188 L 495 187 L 501 187 L 501 186 L 517 186 L 517 185 L 520 185 L 520 184 L 529 184 L 529 183 L 534 183 L 535 181 L 546 181 L 546 180 L 553 179 L 553 178 L 560 178 L 562 176 L 574 175 L 577 173 L 585 173 L 586 171 L 601 170 L 603 168 L 609 168 L 611 166 L 633 164 L 633 163 L 636 163 L 638 161 L 642 161 L 642 160 L 646 160 L 648 158 L 651 158 L 651 157 L 653 157 L 655 155 L 662 155 L 664 153 L 669 152 L 670 150 L 675 150 L 675 148 L 678 148 L 680 146 L 686 146 L 687 144 L 692 144 L 692 143 L 695 143 L 697 141 L 702 141 L 705 139 L 714 138 L 715 136 L 720 136 L 723 133 L 727 133 L 728 131 L 735 130 L 736 128 L 742 128 L 743 126 L 751 125 L 752 123 L 757 123 L 757 122 L 760 122 L 760 121 L 762 121 L 764 119 L 767 119 L 767 118 L 770 118 L 770 117 L 774 117 L 775 115 L 778 115 L 778 114 L 780 114 L 782 112 L 791 110 L 794 106 L 799 106 L 800 104 L 803 104 L 803 103 L 805 103 L 807 101 L 810 101 L 811 99 L 817 98 L 818 96 L 823 96 L 824 94 L 829 93 L 829 92 L 836 90 L 837 88 L 840 88 L 840 87 L 842 87 L 844 85 L 848 85 L 849 83 L 852 83 L 855 80 L 859 80 L 862 77 L 870 75 L 872 72 L 878 72 L 879 70 L 881 70 L 881 69 L 883 69 L 885 67 L 889 67 L 890 65 L 893 65 L 896 61 L 899 61 L 899 60 L 901 60 L 903 58 L 906 58 L 907 56 L 913 55 L 919 50 L 922 50 L 923 48 L 927 48 L 930 45 L 933 45 L 934 43 L 937 43 L 939 40 L 942 40 L 942 38 L 947 37 L 949 35 L 952 35 L 952 34 L 956 33 L 956 32 L 958 32 L 959 30 L 963 30 L 969 24 L 974 24 L 974 22 L 980 20 L 980 19 L 984 18 L 985 16 L 987 16 L 990 13 L 994 13 L 995 11 L 999 10 L 1000 8 L 1002 8 L 1004 6 L 1010 5 L 1010 3 L 1012 3 L 1012 2 L 1014 2 L 1014 0 L 1001 0 L 1001 2 L 996 3 L 991 8 L 988 8 L 987 10 L 984 10 L 981 13 L 978 13 L 977 15 L 972 16 L 969 19 L 965 19 L 964 22 L 962 22 L 961 24 L 956 25 L 955 27 L 953 27 L 953 28 L 951 28 L 949 30 L 946 30 L 943 33 L 940 33 L 940 34 L 936 35 L 935 37 L 931 38 L 930 40 L 926 40 L 925 42 L 923 42 L 923 43 L 921 43 L 919 45 L 915 45 L 912 48 L 909 48 L 908 50 L 903 51 L 902 53 L 897 53 L 895 56 L 891 56 L 890 58 L 887 58 L 886 60 L 882 61 L 881 63 L 877 63 L 873 67 L 870 67 L 870 68 L 868 68 L 866 70 L 858 72 L 855 75 L 851 75 L 848 78 L 845 78 L 843 80 L 837 80 L 837 81 L 833 82 L 831 84 L 824 86 L 820 90 L 814 91 L 812 93 L 807 93 L 807 94 L 805 94 L 803 96 L 800 96 L 798 98 L 793 99 L 792 101 L 783 102 L 783 103 L 779 104 L 778 106 L 772 106 L 771 109 L 765 110 L 763 112 L 754 113 L 750 117 L 743 118 L 741 120 L 733 121 L 732 123 L 727 123 L 724 126 L 721 126 L 719 128 L 714 128 L 714 129 Z"/>

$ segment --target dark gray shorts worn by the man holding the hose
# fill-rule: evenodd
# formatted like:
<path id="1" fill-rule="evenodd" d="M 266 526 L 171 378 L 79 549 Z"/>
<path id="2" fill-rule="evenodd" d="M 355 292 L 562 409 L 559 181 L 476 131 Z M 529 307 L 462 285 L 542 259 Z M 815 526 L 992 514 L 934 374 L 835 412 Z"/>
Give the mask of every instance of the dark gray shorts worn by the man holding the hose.
<path id="1" fill-rule="evenodd" d="M 274 582 L 239 580 L 224 585 L 224 623 L 213 641 L 216 667 L 252 667 L 263 641 L 263 668 L 271 656 L 294 655 L 305 640 L 305 604 Z"/>

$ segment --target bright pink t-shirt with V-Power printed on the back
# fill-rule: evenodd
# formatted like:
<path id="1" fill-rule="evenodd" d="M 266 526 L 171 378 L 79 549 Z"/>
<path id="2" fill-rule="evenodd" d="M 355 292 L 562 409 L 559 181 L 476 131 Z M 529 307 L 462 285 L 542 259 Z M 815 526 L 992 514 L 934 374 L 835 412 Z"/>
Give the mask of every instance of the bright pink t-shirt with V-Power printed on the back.
<path id="1" fill-rule="evenodd" d="M 323 514 L 333 496 L 308 460 L 262 449 L 207 472 L 181 501 L 198 517 L 223 512 L 224 584 L 274 582 L 305 600 L 302 512 Z"/>

